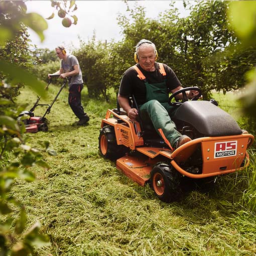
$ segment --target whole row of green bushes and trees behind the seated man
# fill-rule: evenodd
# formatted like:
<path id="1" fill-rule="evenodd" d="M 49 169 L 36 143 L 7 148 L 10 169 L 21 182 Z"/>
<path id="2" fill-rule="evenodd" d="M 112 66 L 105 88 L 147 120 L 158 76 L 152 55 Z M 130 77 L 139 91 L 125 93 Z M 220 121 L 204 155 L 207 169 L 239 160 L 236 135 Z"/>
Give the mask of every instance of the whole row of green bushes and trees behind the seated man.
<path id="1" fill-rule="evenodd" d="M 256 64 L 255 44 L 243 45 L 234 34 L 227 16 L 229 4 L 184 3 L 190 11 L 188 17 L 179 18 L 171 4 L 157 20 L 146 18 L 145 9 L 140 6 L 129 9 L 127 3 L 126 13 L 117 18 L 122 41 L 107 45 L 96 43 L 95 38 L 88 43 L 81 41 L 76 53 L 88 76 L 89 93 L 98 96 L 109 87 L 118 90 L 122 73 L 134 65 L 135 46 L 142 38 L 156 44 L 159 61 L 173 68 L 183 86 L 199 86 L 205 98 L 210 97 L 211 90 L 225 93 L 242 88 L 243 74 Z"/>

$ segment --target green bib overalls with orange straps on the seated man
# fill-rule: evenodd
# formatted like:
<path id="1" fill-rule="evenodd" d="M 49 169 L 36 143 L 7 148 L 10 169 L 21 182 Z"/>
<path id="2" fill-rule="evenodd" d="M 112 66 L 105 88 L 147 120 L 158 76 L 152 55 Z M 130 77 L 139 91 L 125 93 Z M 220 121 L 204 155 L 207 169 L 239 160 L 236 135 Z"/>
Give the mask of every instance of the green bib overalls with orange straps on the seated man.
<path id="1" fill-rule="evenodd" d="M 166 86 L 166 73 L 163 64 L 159 63 L 159 66 L 164 81 L 154 84 L 150 84 L 141 70 L 136 65 L 134 66 L 138 77 L 144 81 L 147 91 L 147 102 L 139 106 L 140 115 L 143 123 L 152 122 L 158 134 L 170 147 L 173 147 L 181 134 L 177 131 L 176 125 L 170 117 L 173 107 L 168 104 L 169 91 Z"/>

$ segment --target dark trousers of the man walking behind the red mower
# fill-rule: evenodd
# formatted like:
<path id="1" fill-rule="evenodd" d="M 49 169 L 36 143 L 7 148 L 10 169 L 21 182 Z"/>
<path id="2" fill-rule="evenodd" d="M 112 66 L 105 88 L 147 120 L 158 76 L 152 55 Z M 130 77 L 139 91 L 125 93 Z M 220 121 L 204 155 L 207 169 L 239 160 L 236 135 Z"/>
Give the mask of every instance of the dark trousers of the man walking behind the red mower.
<path id="1" fill-rule="evenodd" d="M 81 105 L 81 91 L 83 84 L 72 84 L 69 87 L 68 103 L 73 110 L 74 114 L 79 118 L 83 118 L 86 113 Z"/>

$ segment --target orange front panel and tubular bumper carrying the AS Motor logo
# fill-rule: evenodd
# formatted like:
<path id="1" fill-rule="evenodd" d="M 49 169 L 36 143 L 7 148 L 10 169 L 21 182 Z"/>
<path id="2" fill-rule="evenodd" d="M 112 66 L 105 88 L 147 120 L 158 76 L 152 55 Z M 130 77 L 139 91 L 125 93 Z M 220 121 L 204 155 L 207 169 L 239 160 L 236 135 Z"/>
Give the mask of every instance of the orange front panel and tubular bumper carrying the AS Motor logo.
<path id="1" fill-rule="evenodd" d="M 245 160 L 244 166 L 248 165 L 248 154 L 246 149 L 252 144 L 254 137 L 250 134 L 241 134 L 235 136 L 222 137 L 203 137 L 192 140 L 177 150 L 175 150 L 171 158 L 174 159 L 171 164 L 181 174 L 190 178 L 205 178 L 225 173 L 231 173 L 242 169 L 242 162 Z M 188 158 L 193 151 L 192 147 L 198 144 L 202 151 L 202 173 L 191 174 L 183 170 L 179 166 L 179 159 Z M 188 155 L 184 154 L 188 153 Z M 191 154 L 192 155 L 192 154 Z"/>

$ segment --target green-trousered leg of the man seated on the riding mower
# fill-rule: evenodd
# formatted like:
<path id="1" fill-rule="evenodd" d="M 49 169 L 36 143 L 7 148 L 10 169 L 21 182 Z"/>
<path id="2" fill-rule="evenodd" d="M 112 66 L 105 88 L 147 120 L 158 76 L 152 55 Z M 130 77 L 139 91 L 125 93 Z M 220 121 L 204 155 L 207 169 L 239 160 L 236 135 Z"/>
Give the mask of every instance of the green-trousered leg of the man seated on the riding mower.
<path id="1" fill-rule="evenodd" d="M 175 123 L 171 120 L 167 110 L 157 100 L 150 100 L 140 107 L 143 122 L 152 121 L 158 134 L 175 148 L 175 143 L 181 137 Z M 162 131 L 162 134 L 161 134 Z M 165 138 L 164 138 L 165 137 Z"/>

